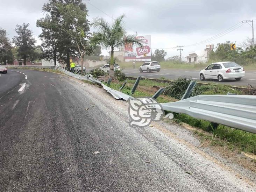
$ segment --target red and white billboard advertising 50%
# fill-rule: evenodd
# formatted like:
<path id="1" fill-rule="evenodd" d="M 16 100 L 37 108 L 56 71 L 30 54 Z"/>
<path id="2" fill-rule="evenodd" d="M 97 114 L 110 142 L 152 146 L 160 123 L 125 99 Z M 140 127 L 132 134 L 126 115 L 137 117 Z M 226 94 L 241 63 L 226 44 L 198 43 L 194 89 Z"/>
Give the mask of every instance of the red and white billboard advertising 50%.
<path id="1" fill-rule="evenodd" d="M 125 61 L 151 61 L 150 35 L 136 36 L 141 40 L 143 47 L 136 47 L 133 43 L 125 45 Z"/>

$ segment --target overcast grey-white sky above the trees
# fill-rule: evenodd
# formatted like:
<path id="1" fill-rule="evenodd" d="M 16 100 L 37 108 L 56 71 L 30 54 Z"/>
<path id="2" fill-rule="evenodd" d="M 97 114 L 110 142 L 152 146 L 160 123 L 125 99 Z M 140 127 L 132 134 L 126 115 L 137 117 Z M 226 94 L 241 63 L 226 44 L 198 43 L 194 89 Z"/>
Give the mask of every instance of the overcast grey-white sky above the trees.
<path id="1" fill-rule="evenodd" d="M 30 23 L 29 28 L 37 38 L 41 30 L 36 27 L 36 20 L 44 16 L 41 10 L 46 2 L 48 0 L 0 0 L 0 27 L 12 38 L 15 36 L 16 24 Z M 198 43 L 229 29 L 242 20 L 256 19 L 256 0 L 90 0 L 89 2 L 92 4 L 87 3 L 89 20 L 101 16 L 112 22 L 109 16 L 113 15 L 115 18 L 125 13 L 128 33 L 135 34 L 137 31 L 138 35 L 151 35 L 153 51 L 156 48 Z M 252 38 L 252 28 L 248 23 L 216 40 L 183 47 L 182 55 L 187 56 L 194 50 L 204 50 L 207 43 L 216 45 L 232 41 L 239 44 L 246 37 Z M 166 51 L 167 56 L 179 55 L 177 49 L 166 49 Z M 102 53 L 107 55 L 107 50 Z"/>

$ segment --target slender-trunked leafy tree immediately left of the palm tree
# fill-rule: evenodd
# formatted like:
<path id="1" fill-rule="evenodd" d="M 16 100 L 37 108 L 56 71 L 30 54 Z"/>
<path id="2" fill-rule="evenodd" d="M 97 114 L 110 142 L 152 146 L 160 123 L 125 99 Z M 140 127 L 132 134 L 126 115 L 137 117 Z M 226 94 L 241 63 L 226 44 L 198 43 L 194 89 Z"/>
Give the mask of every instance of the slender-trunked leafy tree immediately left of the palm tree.
<path id="1" fill-rule="evenodd" d="M 59 3 L 57 7 L 61 13 L 61 19 L 64 22 L 64 25 L 69 23 L 72 27 L 72 30 L 62 30 L 70 35 L 72 41 L 75 42 L 81 58 L 81 69 L 83 69 L 84 56 L 90 55 L 93 52 L 93 49 L 89 44 L 90 28 L 89 22 L 86 19 L 86 7 L 82 10 L 78 5 L 72 3 L 67 5 Z"/>

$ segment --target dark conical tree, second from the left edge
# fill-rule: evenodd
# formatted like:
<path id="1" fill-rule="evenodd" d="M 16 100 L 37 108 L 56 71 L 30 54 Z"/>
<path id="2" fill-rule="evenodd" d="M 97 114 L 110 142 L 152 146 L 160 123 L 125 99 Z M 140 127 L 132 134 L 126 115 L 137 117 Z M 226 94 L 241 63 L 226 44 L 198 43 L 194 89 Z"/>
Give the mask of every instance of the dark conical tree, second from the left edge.
<path id="1" fill-rule="evenodd" d="M 36 40 L 32 35 L 32 31 L 28 29 L 29 24 L 23 23 L 22 25 L 17 25 L 14 29 L 17 36 L 13 38 L 13 43 L 18 46 L 19 56 L 24 60 L 24 65 L 26 65 L 27 58 L 34 54 Z"/>

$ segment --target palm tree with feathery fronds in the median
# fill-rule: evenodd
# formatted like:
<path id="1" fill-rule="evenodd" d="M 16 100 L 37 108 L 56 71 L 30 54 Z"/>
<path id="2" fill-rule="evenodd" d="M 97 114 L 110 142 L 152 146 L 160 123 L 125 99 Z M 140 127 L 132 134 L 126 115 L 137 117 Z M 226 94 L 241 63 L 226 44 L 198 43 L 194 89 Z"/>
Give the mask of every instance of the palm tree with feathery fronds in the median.
<path id="1" fill-rule="evenodd" d="M 117 17 L 112 26 L 102 17 L 96 17 L 92 21 L 92 26 L 98 30 L 91 38 L 92 45 L 101 45 L 102 48 L 111 49 L 111 60 L 109 76 L 114 78 L 114 49 L 123 49 L 125 44 L 133 43 L 137 47 L 142 47 L 140 40 L 135 35 L 127 35 L 123 26 L 125 15 Z"/>

